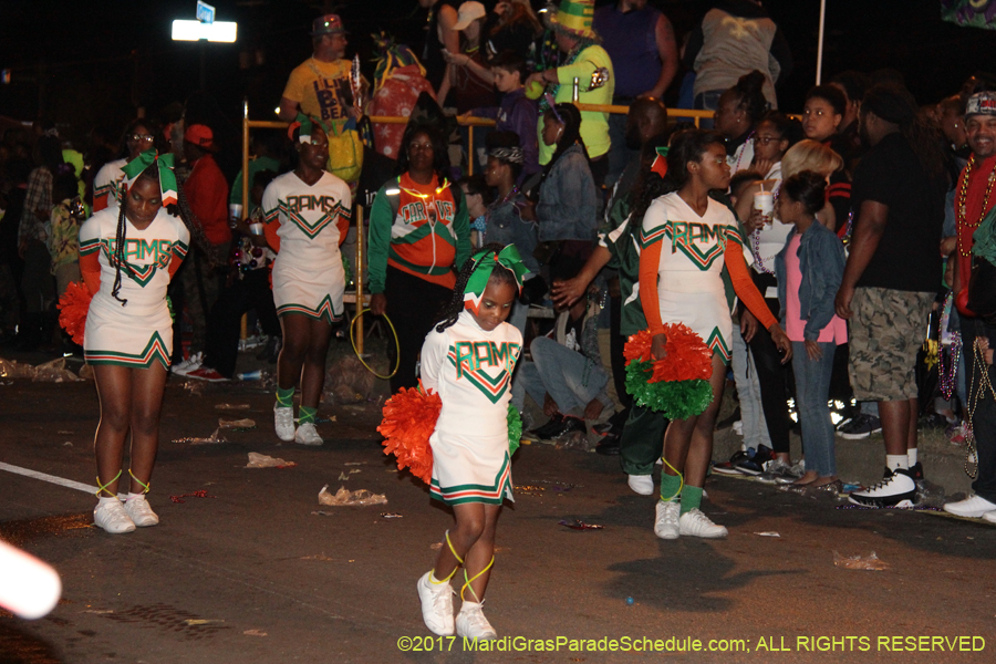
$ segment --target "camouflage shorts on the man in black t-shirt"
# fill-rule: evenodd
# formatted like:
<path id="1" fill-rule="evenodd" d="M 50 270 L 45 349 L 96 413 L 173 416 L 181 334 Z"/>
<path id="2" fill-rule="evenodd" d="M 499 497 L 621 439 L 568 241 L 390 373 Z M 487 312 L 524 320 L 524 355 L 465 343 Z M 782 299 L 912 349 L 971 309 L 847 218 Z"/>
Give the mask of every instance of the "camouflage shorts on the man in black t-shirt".
<path id="1" fill-rule="evenodd" d="M 916 353 L 934 293 L 859 288 L 851 300 L 849 373 L 858 401 L 916 398 Z"/>

